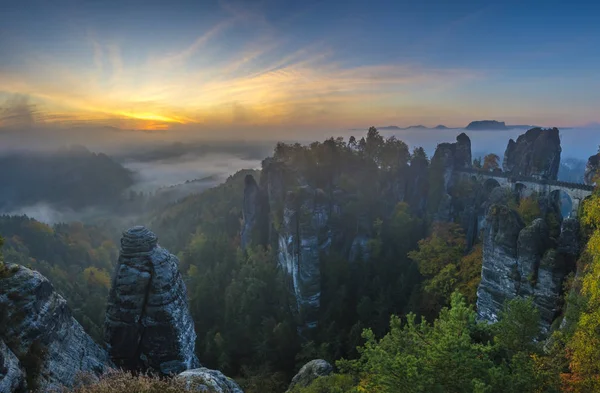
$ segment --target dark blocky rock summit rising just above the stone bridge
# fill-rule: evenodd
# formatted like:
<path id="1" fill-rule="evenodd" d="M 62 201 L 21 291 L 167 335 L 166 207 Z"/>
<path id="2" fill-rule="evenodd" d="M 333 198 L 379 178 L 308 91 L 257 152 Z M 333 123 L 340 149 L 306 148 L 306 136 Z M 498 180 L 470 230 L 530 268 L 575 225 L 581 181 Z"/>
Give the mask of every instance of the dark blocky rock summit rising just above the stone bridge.
<path id="1" fill-rule="evenodd" d="M 514 176 L 556 180 L 561 152 L 558 128 L 532 128 L 508 142 L 502 168 Z"/>

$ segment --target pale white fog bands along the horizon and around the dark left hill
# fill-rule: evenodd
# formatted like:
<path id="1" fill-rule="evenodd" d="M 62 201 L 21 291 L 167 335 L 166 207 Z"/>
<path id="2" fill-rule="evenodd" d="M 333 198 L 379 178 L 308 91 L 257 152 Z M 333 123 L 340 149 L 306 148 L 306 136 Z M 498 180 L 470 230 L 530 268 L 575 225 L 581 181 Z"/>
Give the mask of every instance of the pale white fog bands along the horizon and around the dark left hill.
<path id="1" fill-rule="evenodd" d="M 164 202 L 172 203 L 220 184 L 241 169 L 259 169 L 261 160 L 272 154 L 278 140 L 308 144 L 315 140 L 341 136 L 347 141 L 351 135 L 361 138 L 367 132 L 366 129 L 313 131 L 310 134 L 287 131 L 279 134 L 276 139 L 262 141 L 248 141 L 247 138 L 218 140 L 219 133 L 215 132 L 211 134 L 211 141 L 200 141 L 193 133 L 139 132 L 106 127 L 97 131 L 90 133 L 89 127 L 50 130 L 40 125 L 34 125 L 26 131 L 12 129 L 7 132 L 6 129 L 0 129 L 0 154 L 31 150 L 54 151 L 61 146 L 79 143 L 94 152 L 108 153 L 132 170 L 135 184 L 130 191 L 162 195 Z M 471 138 L 474 157 L 487 153 L 502 157 L 509 139 L 518 138 L 525 130 L 381 130 L 384 137 L 394 135 L 411 148 L 422 146 L 430 157 L 439 143 L 454 142 L 461 132 L 466 132 Z M 568 158 L 587 160 L 598 151 L 600 128 L 561 130 L 561 142 L 563 162 Z M 26 214 L 47 223 L 88 221 L 110 215 L 110 212 L 94 208 L 83 211 L 57 210 L 44 201 L 3 213 Z"/>

